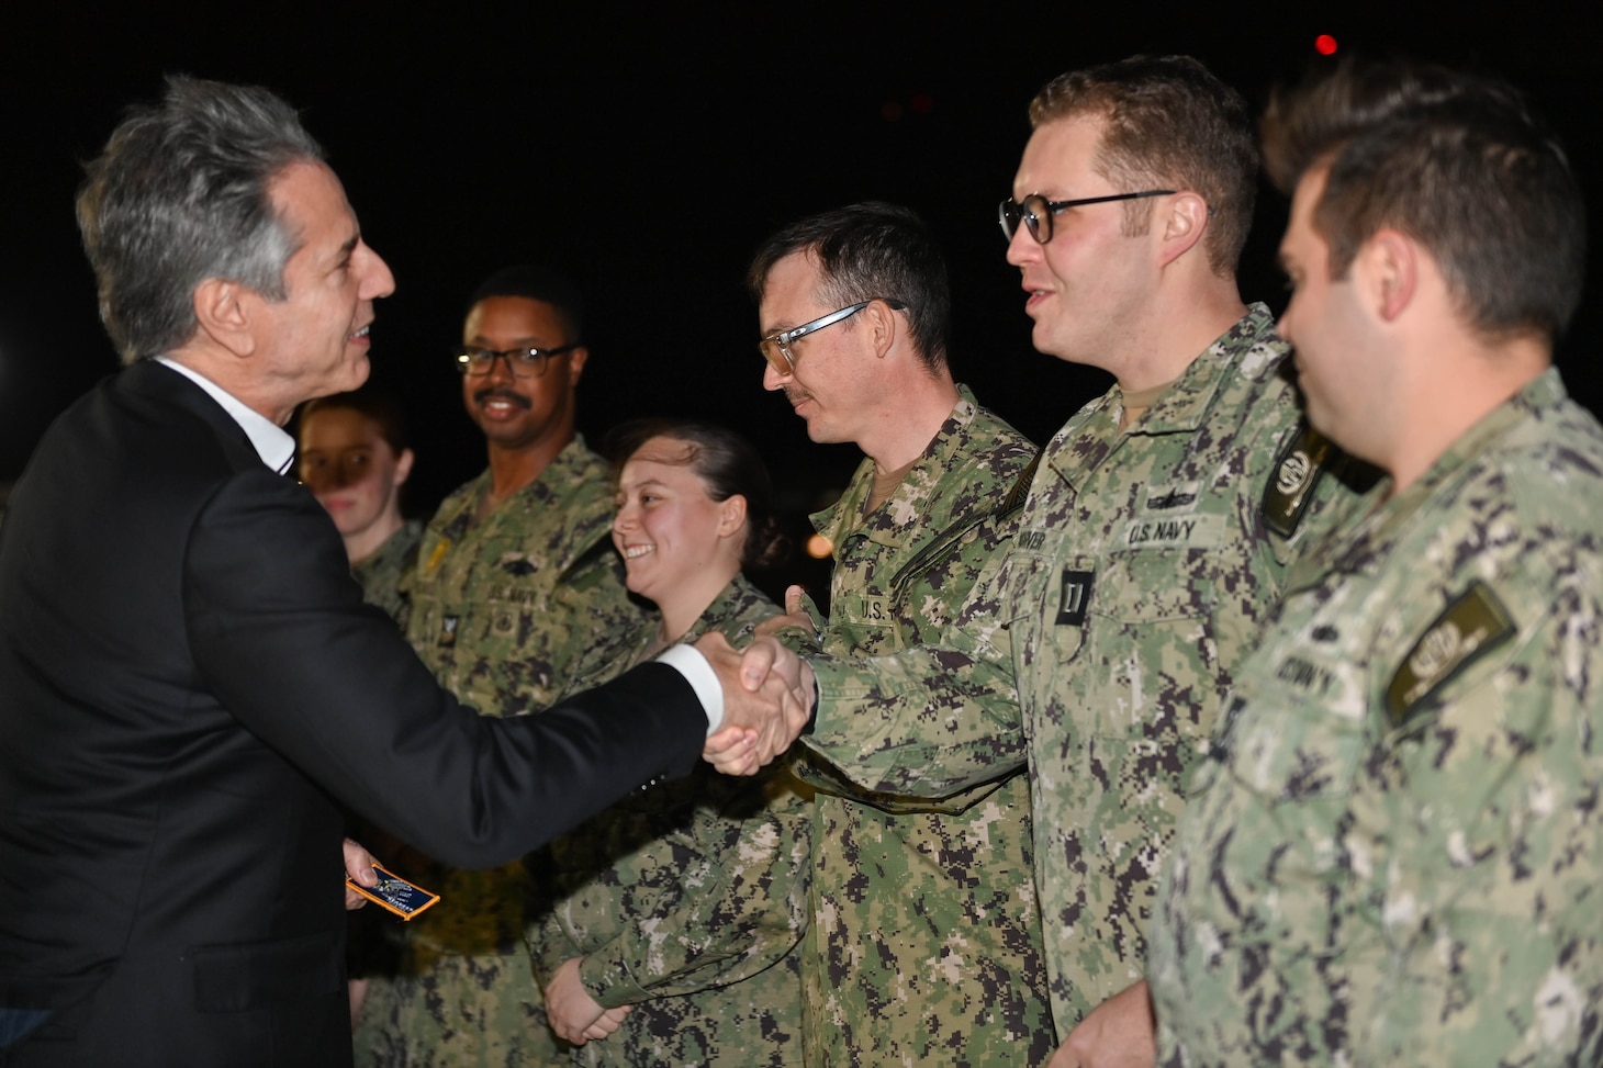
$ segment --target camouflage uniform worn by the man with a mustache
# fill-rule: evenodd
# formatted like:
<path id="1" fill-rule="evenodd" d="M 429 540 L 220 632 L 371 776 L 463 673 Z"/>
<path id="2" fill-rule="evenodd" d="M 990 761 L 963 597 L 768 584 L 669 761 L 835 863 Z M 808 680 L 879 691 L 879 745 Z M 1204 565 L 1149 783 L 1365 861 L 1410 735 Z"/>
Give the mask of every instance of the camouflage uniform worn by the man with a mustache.
<path id="1" fill-rule="evenodd" d="M 430 521 L 407 637 L 458 699 L 483 715 L 523 715 L 550 707 L 593 669 L 606 635 L 635 627 L 641 613 L 609 537 L 606 463 L 582 438 L 474 523 L 487 491 L 489 471 Z M 402 973 L 373 983 L 357 1063 L 567 1063 L 523 943 L 527 916 L 545 901 L 540 856 L 486 872 L 415 872 L 441 903 L 406 925 Z"/>

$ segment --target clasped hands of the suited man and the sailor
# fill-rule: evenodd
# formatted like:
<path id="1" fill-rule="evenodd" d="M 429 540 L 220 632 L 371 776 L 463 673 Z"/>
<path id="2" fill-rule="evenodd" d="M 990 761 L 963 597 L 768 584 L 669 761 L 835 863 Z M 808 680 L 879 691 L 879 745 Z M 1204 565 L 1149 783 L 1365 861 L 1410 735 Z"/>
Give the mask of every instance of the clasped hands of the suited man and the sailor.
<path id="1" fill-rule="evenodd" d="M 696 648 L 723 683 L 723 726 L 702 755 L 725 775 L 755 775 L 790 747 L 813 712 L 813 669 L 774 638 L 742 653 L 721 633 Z"/>

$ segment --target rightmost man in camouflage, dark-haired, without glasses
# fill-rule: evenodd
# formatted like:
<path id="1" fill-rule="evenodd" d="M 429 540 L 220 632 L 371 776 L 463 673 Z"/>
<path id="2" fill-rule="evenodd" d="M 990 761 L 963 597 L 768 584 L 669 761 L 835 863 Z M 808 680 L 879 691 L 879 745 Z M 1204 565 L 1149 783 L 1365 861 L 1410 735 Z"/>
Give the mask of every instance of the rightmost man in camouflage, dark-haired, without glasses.
<path id="1" fill-rule="evenodd" d="M 1153 932 L 1181 1065 L 1603 1063 L 1603 428 L 1552 343 L 1584 215 L 1513 90 L 1276 96 L 1282 319 L 1388 473 L 1236 677 Z"/>

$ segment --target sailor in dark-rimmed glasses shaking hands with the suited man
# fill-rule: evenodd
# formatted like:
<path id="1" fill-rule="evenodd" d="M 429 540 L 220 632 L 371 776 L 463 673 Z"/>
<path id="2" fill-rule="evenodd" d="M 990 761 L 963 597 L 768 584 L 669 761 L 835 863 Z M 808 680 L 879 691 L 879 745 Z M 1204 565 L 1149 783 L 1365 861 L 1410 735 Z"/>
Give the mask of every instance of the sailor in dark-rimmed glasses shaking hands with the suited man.
<path id="1" fill-rule="evenodd" d="M 1314 484 L 1337 479 L 1318 478 L 1273 316 L 1236 287 L 1246 101 L 1194 59 L 1133 58 L 1058 77 L 1031 122 L 1007 260 L 1036 348 L 1114 385 L 1047 446 L 943 648 L 813 659 L 810 744 L 898 794 L 1028 762 L 1053 1065 L 1140 1063 L 1148 920 L 1191 768 L 1313 540 Z"/>

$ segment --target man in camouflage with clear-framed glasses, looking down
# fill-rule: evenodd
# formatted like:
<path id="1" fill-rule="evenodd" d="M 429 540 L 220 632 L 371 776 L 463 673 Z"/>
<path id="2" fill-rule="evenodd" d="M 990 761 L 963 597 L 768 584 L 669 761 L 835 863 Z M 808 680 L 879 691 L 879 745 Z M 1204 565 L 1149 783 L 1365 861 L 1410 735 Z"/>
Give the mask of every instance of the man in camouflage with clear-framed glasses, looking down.
<path id="1" fill-rule="evenodd" d="M 939 249 L 906 208 L 853 205 L 771 237 L 750 284 L 763 385 L 814 441 L 867 454 L 813 516 L 835 553 L 824 648 L 939 640 L 1011 536 L 1008 496 L 1036 454 L 952 382 Z M 819 759 L 803 778 L 818 789 L 806 1063 L 1039 1063 L 1053 1034 L 1024 776 L 938 800 L 862 791 Z"/>

